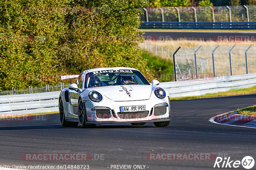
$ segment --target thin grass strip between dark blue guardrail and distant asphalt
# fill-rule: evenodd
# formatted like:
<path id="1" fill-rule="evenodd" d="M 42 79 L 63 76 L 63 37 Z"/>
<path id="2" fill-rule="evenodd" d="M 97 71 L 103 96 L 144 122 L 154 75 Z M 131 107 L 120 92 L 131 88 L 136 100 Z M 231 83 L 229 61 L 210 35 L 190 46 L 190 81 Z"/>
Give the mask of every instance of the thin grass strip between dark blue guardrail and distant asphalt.
<path id="1" fill-rule="evenodd" d="M 215 29 L 140 29 L 140 31 L 205 31 L 205 32 L 256 32 L 256 30 L 215 30 Z"/>

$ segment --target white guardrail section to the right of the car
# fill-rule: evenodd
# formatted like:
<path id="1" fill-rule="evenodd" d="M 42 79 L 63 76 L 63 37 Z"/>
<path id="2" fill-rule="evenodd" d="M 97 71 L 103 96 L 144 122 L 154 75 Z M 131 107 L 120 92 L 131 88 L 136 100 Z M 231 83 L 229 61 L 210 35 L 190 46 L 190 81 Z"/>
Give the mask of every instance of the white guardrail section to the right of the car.
<path id="1" fill-rule="evenodd" d="M 235 88 L 241 89 L 256 86 L 256 73 L 208 79 L 162 82 L 160 86 L 169 92 L 170 97 L 200 96 L 207 93 L 218 93 Z"/>

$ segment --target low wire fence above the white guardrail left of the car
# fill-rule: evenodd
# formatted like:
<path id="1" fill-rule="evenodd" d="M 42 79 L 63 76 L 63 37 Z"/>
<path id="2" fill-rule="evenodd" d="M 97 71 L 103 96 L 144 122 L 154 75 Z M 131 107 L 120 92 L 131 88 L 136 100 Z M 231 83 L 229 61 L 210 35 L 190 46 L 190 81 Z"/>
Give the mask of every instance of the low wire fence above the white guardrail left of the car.
<path id="1" fill-rule="evenodd" d="M 0 91 L 0 95 L 17 95 L 17 94 L 27 94 L 27 93 L 42 93 L 42 92 L 49 92 L 49 91 L 60 91 L 70 84 L 68 83 L 60 83 L 59 85 L 45 85 L 45 87 L 32 87 L 30 86 L 28 89 L 12 89 L 12 90 L 5 90 Z"/>

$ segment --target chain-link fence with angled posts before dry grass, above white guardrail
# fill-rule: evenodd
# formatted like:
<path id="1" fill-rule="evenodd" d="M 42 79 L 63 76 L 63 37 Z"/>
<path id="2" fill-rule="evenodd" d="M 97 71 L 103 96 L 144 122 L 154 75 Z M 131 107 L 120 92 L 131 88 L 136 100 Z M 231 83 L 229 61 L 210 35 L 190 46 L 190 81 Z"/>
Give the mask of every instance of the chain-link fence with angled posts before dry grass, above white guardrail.
<path id="1" fill-rule="evenodd" d="M 256 46 L 180 47 L 174 54 L 176 79 L 256 73 L 255 54 Z"/>

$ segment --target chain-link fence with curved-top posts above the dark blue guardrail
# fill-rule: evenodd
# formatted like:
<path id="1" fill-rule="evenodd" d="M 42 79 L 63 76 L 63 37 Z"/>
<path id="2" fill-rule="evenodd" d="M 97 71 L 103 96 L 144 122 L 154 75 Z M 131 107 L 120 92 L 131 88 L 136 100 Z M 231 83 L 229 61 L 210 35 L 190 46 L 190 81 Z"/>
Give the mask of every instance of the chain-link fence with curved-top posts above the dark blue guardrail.
<path id="1" fill-rule="evenodd" d="M 150 7 L 139 8 L 141 21 L 159 22 L 236 22 L 256 21 L 256 5 Z"/>

